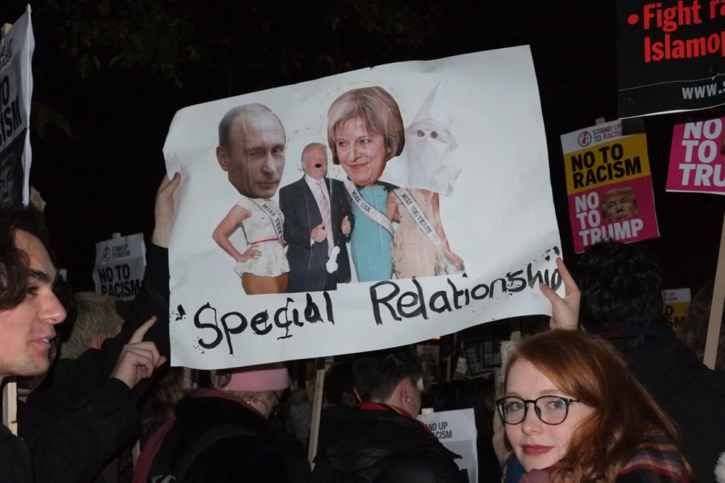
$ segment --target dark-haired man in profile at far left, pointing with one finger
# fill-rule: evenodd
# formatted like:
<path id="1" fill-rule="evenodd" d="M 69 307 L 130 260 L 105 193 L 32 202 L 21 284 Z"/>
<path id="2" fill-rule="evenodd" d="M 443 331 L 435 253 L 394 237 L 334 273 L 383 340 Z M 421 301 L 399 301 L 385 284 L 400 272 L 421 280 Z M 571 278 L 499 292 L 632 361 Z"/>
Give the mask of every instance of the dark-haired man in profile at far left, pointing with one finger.
<path id="1" fill-rule="evenodd" d="M 0 212 L 0 385 L 9 377 L 38 376 L 50 368 L 51 340 L 56 337 L 55 326 L 65 320 L 66 311 L 54 293 L 58 274 L 48 246 L 39 212 L 25 207 Z M 78 468 L 87 471 L 86 477 L 93 476 L 94 463 L 104 459 L 99 454 L 116 449 L 111 445 L 117 440 L 104 434 L 113 424 L 110 420 L 125 418 L 130 392 L 165 363 L 166 358 L 155 344 L 143 340 L 154 322 L 152 319 L 141 324 L 120 347 L 104 392 L 86 393 L 86 400 L 73 413 L 43 429 L 51 444 L 18 439 L 2 427 L 3 478 L 12 482 L 86 481 L 77 477 L 83 471 Z M 98 441 L 100 447 L 95 446 Z M 70 453 L 70 461 L 61 456 Z M 51 466 L 51 477 L 46 479 L 43 469 Z M 96 469 L 100 469 L 100 463 Z M 63 471 L 73 477 L 64 479 L 59 475 Z"/>

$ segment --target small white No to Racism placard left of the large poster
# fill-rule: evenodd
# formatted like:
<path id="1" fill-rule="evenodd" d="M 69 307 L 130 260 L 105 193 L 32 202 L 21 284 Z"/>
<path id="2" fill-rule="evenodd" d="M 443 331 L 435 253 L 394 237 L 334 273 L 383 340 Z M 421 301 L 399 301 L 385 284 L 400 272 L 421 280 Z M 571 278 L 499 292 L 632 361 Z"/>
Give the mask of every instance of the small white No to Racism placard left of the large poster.
<path id="1" fill-rule="evenodd" d="M 146 270 L 144 235 L 119 236 L 96 243 L 93 280 L 96 292 L 133 300 L 141 291 Z"/>

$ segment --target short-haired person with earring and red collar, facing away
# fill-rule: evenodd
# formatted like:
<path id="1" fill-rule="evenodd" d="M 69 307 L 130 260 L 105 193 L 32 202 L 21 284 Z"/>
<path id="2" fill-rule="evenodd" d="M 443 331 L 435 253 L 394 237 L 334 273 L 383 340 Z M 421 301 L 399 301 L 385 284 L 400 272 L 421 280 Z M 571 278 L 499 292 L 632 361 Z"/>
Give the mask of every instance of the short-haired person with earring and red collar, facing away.
<path id="1" fill-rule="evenodd" d="M 409 349 L 361 355 L 353 363 L 360 409 L 340 421 L 328 447 L 320 448 L 310 482 L 465 482 L 421 410 L 423 363 Z"/>

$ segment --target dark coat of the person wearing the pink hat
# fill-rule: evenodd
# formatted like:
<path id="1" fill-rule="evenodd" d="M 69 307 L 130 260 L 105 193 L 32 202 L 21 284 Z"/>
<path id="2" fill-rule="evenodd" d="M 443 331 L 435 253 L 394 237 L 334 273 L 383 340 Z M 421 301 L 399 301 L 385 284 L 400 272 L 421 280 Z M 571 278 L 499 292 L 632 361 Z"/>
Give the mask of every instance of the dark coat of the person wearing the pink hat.
<path id="1" fill-rule="evenodd" d="M 189 453 L 204 434 L 220 426 L 236 427 L 241 434 L 215 439 Z M 192 453 L 196 458 L 191 458 Z M 241 400 L 215 389 L 197 389 L 178 402 L 176 419 L 159 446 L 147 481 L 167 481 L 165 477 L 175 474 L 182 463 L 188 464 L 183 478 L 188 483 L 306 483 L 310 476 L 302 445 L 278 421 L 265 420 Z"/>

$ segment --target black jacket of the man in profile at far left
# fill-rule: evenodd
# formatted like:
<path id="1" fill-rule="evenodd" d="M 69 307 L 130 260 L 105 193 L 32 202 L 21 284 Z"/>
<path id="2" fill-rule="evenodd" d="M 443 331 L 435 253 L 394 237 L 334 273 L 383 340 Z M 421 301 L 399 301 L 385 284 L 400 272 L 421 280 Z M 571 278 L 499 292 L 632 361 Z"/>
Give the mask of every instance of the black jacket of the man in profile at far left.
<path id="1" fill-rule="evenodd" d="M 152 245 L 147 260 L 141 292 L 128 305 L 129 318 L 120 334 L 106 339 L 100 350 L 61 360 L 49 374 L 51 379 L 18 408 L 20 437 L 28 441 L 38 482 L 92 482 L 133 439 L 136 400 L 149 381 L 141 381 L 131 392 L 123 381 L 109 376 L 123 345 L 151 315 L 158 320 L 145 339 L 153 340 L 162 355 L 168 357 L 170 350 L 167 249 Z"/>

